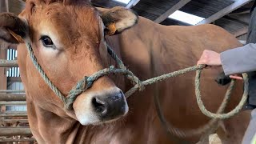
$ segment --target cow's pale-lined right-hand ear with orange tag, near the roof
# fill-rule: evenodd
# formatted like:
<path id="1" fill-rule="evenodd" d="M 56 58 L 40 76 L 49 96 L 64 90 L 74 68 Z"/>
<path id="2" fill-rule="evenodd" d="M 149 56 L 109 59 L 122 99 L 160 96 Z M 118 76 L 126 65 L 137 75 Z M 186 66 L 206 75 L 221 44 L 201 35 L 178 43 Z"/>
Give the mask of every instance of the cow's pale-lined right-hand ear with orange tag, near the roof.
<path id="1" fill-rule="evenodd" d="M 101 18 L 107 35 L 122 33 L 138 22 L 138 15 L 133 10 L 119 6 L 102 11 Z"/>

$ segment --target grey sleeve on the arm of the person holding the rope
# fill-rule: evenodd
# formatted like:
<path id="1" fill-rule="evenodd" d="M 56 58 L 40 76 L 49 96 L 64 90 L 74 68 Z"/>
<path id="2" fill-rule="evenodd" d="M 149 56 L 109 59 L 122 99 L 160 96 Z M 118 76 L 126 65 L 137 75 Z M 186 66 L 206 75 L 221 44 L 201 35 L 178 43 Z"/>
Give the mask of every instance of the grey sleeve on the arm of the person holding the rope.
<path id="1" fill-rule="evenodd" d="M 226 50 L 221 53 L 221 61 L 226 75 L 256 71 L 256 44 Z"/>

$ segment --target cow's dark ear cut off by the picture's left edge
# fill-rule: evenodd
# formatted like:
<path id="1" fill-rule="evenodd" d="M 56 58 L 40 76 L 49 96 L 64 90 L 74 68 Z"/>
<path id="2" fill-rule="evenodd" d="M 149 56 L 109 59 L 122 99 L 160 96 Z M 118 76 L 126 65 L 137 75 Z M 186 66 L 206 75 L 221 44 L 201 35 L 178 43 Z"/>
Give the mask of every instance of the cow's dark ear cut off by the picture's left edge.
<path id="1" fill-rule="evenodd" d="M 26 38 L 27 24 L 15 14 L 0 14 L 0 38 L 10 43 L 21 43 Z"/>

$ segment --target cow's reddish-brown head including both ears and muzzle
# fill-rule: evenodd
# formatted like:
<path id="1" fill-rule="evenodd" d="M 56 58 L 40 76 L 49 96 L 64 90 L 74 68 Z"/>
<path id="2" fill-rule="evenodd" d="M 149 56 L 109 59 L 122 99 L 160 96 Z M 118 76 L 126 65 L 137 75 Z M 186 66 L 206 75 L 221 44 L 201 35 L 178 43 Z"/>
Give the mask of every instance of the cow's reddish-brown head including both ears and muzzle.
<path id="1" fill-rule="evenodd" d="M 98 12 L 87 2 L 29 0 L 19 17 L 1 14 L 0 28 L 5 32 L 1 38 L 6 42 L 18 43 L 30 38 L 38 63 L 62 94 L 67 95 L 84 76 L 106 67 L 104 32 L 120 33 L 134 26 L 137 20 L 136 14 L 121 7 Z M 33 102 L 63 109 L 63 103 L 31 67 L 26 74 L 33 77 L 33 86 L 39 91 L 30 95 Z M 122 90 L 108 77 L 99 78 L 80 94 L 73 108 L 74 118 L 82 125 L 110 122 L 128 111 Z"/>

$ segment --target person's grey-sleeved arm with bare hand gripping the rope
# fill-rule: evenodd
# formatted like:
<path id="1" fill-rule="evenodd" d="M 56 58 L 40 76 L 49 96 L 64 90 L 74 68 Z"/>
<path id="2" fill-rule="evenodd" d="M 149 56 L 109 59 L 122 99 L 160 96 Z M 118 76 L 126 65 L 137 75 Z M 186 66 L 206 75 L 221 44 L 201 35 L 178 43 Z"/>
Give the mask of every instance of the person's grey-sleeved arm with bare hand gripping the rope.
<path id="1" fill-rule="evenodd" d="M 198 65 L 222 66 L 226 75 L 230 78 L 242 79 L 237 74 L 256 71 L 256 44 L 248 44 L 232 50 L 226 50 L 218 54 L 212 50 L 204 50 Z"/>

